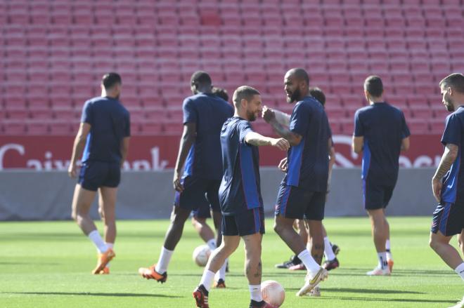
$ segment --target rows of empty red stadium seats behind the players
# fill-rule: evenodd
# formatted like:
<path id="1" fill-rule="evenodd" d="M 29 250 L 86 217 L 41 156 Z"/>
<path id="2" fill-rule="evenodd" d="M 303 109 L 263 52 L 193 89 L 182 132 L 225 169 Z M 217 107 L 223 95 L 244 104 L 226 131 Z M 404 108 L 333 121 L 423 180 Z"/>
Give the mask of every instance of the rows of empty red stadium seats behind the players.
<path id="1" fill-rule="evenodd" d="M 197 69 L 229 92 L 255 86 L 289 110 L 283 74 L 304 67 L 326 91 L 334 133 L 352 133 L 363 80 L 413 133 L 441 133 L 438 82 L 464 71 L 462 0 L 0 2 L 0 133 L 75 134 L 84 101 L 110 70 L 123 79 L 132 133 L 179 134 Z M 257 123 L 262 130 L 267 126 Z"/>

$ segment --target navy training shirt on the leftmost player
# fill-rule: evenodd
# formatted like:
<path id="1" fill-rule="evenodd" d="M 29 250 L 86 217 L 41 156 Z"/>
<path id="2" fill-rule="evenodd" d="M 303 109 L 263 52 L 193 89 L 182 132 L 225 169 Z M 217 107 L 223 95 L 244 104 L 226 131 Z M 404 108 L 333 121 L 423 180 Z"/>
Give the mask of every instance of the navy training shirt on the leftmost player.
<path id="1" fill-rule="evenodd" d="M 114 98 L 92 98 L 82 110 L 82 123 L 89 123 L 82 162 L 107 161 L 120 163 L 121 142 L 131 135 L 129 112 Z"/>

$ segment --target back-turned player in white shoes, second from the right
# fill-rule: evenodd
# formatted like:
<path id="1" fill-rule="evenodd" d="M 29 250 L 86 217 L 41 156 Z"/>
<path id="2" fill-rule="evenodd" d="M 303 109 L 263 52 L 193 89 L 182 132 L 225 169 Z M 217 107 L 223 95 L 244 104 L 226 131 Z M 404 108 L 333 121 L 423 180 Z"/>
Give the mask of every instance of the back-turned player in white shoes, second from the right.
<path id="1" fill-rule="evenodd" d="M 352 147 L 355 153 L 363 152 L 363 203 L 378 254 L 378 266 L 367 274 L 382 276 L 393 269 L 385 208 L 397 183 L 399 153 L 408 150 L 411 134 L 403 112 L 383 100 L 380 77 L 366 78 L 364 95 L 369 106 L 356 110 Z"/>

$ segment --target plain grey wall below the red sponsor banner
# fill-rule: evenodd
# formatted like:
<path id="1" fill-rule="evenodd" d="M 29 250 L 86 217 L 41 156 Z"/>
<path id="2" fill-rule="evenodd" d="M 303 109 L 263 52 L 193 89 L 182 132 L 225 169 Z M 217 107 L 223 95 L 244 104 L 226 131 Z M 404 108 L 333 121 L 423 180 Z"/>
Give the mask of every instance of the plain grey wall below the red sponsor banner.
<path id="1" fill-rule="evenodd" d="M 434 168 L 401 168 L 389 215 L 431 215 L 435 201 L 430 188 Z M 361 170 L 336 168 L 326 205 L 327 216 L 365 215 L 361 199 Z M 262 194 L 267 215 L 272 215 L 282 173 L 262 168 Z M 63 171 L 0 172 L 0 220 L 68 220 L 75 180 Z M 126 171 L 118 193 L 118 219 L 168 218 L 174 191 L 172 170 Z M 91 215 L 98 217 L 94 204 Z"/>

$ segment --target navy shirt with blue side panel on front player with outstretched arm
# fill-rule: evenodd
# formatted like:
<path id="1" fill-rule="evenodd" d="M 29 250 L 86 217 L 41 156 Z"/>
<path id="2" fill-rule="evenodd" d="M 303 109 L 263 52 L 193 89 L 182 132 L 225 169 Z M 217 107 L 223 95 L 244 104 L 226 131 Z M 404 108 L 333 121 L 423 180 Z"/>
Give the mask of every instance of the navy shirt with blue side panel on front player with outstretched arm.
<path id="1" fill-rule="evenodd" d="M 250 122 L 234 116 L 228 119 L 221 131 L 224 176 L 219 188 L 219 201 L 223 215 L 263 206 L 258 147 L 245 142 L 252 132 Z"/>

